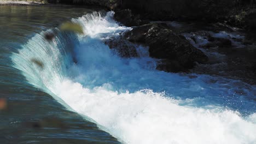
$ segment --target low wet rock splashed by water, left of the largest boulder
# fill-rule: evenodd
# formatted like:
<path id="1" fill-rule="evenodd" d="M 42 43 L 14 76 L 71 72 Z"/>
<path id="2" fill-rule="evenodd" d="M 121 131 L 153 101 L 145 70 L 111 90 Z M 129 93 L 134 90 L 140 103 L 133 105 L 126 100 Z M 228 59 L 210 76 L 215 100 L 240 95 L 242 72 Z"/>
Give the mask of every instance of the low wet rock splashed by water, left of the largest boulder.
<path id="1" fill-rule="evenodd" d="M 109 49 L 115 49 L 121 57 L 138 57 L 135 44 L 122 38 L 110 38 L 104 41 Z"/>

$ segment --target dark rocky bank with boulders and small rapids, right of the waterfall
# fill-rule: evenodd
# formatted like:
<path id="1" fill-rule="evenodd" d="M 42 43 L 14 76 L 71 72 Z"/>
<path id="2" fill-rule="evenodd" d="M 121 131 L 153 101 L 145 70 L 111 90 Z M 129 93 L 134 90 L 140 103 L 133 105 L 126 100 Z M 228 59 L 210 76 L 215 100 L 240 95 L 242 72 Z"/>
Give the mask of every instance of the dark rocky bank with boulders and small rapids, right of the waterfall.
<path id="1" fill-rule="evenodd" d="M 117 10 L 114 19 L 132 30 L 106 41 L 121 56 L 136 57 L 135 45 L 143 45 L 150 57 L 159 59 L 158 70 L 219 75 L 255 85 L 256 40 L 245 30 L 221 21 L 149 22 L 131 12 Z"/>

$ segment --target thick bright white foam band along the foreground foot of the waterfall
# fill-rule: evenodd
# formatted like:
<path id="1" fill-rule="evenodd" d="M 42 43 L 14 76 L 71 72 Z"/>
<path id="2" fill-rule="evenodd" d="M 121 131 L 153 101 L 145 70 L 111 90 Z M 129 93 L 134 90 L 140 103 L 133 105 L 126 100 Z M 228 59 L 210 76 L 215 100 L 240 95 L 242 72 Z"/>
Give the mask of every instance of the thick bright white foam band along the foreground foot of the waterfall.
<path id="1" fill-rule="evenodd" d="M 55 92 L 126 143 L 254 143 L 256 124 L 236 112 L 178 105 L 162 93 L 94 89 L 64 80 Z"/>

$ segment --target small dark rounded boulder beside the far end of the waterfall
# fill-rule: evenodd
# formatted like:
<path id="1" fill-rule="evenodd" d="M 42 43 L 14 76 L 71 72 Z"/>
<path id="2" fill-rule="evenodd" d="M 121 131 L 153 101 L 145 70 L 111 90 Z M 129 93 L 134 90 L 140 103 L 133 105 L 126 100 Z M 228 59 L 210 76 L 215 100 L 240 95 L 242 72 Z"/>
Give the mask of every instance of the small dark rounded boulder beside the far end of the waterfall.
<path id="1" fill-rule="evenodd" d="M 132 15 L 130 9 L 116 11 L 114 15 L 114 19 L 128 27 L 139 26 L 139 22 L 140 22 L 139 16 Z"/>

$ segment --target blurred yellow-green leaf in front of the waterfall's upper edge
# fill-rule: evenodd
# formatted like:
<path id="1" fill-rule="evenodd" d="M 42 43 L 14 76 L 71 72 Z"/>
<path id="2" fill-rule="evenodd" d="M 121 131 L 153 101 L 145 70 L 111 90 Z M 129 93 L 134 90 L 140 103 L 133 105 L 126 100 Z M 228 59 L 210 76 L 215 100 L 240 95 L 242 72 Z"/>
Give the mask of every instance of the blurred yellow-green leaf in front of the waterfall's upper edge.
<path id="1" fill-rule="evenodd" d="M 61 31 L 71 31 L 71 32 L 77 32 L 79 34 L 84 34 L 83 27 L 80 26 L 78 23 L 73 22 L 65 22 L 60 27 Z"/>

